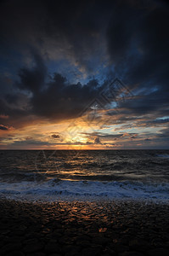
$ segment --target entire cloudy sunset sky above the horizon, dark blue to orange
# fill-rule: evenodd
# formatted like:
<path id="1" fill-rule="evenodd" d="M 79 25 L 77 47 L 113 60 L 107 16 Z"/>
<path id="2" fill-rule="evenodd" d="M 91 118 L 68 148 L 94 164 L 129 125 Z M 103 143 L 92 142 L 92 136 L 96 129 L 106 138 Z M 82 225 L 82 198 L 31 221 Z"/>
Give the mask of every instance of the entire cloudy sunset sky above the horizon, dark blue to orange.
<path id="1" fill-rule="evenodd" d="M 169 149 L 169 3 L 1 0 L 0 149 Z"/>

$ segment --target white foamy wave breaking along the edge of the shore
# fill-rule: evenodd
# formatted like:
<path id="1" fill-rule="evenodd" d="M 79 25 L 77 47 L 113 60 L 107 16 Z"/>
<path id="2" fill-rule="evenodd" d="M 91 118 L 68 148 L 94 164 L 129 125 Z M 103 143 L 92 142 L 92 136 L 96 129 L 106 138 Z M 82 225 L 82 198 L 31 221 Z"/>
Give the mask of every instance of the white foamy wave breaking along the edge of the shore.
<path id="1" fill-rule="evenodd" d="M 168 201 L 169 183 L 61 181 L 0 183 L 0 194 L 18 200 L 128 199 Z"/>

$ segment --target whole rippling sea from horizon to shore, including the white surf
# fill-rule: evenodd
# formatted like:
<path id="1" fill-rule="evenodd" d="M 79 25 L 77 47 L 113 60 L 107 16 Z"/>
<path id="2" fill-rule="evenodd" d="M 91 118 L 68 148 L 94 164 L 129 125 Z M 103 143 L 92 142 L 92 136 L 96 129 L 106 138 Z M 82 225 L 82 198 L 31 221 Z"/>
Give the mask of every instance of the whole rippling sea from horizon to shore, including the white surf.
<path id="1" fill-rule="evenodd" d="M 0 150 L 0 198 L 169 201 L 169 150 Z"/>

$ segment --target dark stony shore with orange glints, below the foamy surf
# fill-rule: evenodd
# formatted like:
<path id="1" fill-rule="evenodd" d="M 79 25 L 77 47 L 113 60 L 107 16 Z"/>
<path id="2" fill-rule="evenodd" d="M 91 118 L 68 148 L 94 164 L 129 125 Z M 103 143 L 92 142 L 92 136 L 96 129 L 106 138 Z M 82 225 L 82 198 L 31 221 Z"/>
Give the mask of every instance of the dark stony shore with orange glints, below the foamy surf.
<path id="1" fill-rule="evenodd" d="M 169 255 L 169 206 L 0 200 L 0 255 Z"/>

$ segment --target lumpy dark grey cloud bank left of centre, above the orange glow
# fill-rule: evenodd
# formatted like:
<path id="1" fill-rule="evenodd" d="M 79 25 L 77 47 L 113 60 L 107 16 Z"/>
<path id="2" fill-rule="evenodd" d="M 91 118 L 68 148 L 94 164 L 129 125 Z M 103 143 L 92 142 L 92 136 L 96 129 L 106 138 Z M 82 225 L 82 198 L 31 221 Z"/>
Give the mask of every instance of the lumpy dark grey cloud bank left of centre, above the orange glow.
<path id="1" fill-rule="evenodd" d="M 49 76 L 42 56 L 35 53 L 34 67 L 23 67 L 14 91 L 0 97 L 0 119 L 8 116 L 6 123 L 28 121 L 31 116 L 47 119 L 75 118 L 99 96 L 100 85 L 96 79 L 87 84 L 70 84 L 59 73 Z"/>

